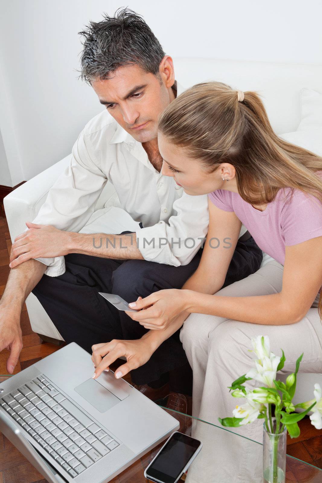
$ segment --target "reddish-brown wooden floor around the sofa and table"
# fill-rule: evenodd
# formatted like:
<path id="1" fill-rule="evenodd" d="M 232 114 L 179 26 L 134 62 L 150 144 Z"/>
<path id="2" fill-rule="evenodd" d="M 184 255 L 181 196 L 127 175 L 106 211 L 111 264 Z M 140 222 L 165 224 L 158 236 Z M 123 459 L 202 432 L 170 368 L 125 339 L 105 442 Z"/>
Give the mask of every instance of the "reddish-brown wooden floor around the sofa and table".
<path id="1" fill-rule="evenodd" d="M 0 297 L 4 291 L 9 275 L 9 254 L 11 240 L 9 228 L 0 205 Z M 59 346 L 42 342 L 30 327 L 26 305 L 24 304 L 21 314 L 22 338 L 24 347 L 21 351 L 19 362 L 14 373 L 39 361 L 59 349 Z M 7 373 L 6 360 L 8 351 L 0 352 L 0 374 Z M 309 398 L 310 396 L 308 396 Z M 300 421 L 301 435 L 296 440 L 288 439 L 287 453 L 307 463 L 322 468 L 322 437 L 321 431 L 317 431 L 308 417 Z M 296 462 L 294 463 L 295 472 Z M 296 483 L 297 480 L 292 471 L 292 465 L 287 468 L 287 481 Z M 322 481 L 322 477 L 321 477 Z M 0 433 L 0 483 L 46 483 L 42 475 L 32 467 L 28 460 L 12 445 L 12 443 Z M 200 482 L 203 483 L 203 482 Z M 206 483 L 206 482 L 205 482 Z"/>

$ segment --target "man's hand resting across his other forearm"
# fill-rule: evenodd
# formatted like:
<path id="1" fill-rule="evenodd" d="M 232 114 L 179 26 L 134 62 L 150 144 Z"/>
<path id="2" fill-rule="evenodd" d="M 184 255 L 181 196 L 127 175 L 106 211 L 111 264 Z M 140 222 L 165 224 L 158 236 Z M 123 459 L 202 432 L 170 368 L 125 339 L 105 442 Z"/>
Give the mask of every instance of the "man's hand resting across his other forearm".
<path id="1" fill-rule="evenodd" d="M 11 247 L 10 267 L 14 268 L 30 258 L 52 258 L 69 253 L 70 232 L 51 225 L 26 222 L 27 231 L 14 239 Z"/>

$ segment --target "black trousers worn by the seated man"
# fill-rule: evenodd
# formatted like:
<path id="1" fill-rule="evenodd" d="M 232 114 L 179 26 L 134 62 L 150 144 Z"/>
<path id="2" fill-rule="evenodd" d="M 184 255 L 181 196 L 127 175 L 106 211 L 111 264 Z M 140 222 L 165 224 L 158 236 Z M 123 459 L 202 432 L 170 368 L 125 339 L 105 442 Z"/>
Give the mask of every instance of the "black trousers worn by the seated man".
<path id="1" fill-rule="evenodd" d="M 173 267 L 146 260 L 114 260 L 97 256 L 65 256 L 66 271 L 58 277 L 43 275 L 32 290 L 66 342 L 76 342 L 90 354 L 93 344 L 112 339 L 140 339 L 147 329 L 118 311 L 98 292 L 120 295 L 127 302 L 152 292 L 181 288 L 196 271 L 202 249 L 188 265 Z M 255 241 L 238 241 L 223 286 L 259 269 L 262 251 Z M 150 360 L 131 371 L 135 384 L 156 381 L 188 360 L 178 330 L 164 341 Z"/>

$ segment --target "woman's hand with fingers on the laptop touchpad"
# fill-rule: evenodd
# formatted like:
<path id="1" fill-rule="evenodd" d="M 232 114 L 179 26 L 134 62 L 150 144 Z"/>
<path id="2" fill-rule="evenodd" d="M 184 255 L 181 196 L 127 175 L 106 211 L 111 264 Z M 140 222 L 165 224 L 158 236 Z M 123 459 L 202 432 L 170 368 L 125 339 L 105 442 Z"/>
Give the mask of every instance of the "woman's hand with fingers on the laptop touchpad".
<path id="1" fill-rule="evenodd" d="M 155 347 L 156 348 L 156 347 Z M 110 365 L 118 357 L 124 355 L 126 364 L 115 370 L 115 377 L 119 379 L 125 376 L 130 370 L 143 366 L 154 353 L 155 348 L 148 338 L 134 341 L 112 340 L 107 344 L 95 344 L 92 346 L 92 361 L 96 366 L 93 379 L 97 379 L 103 370 L 110 370 Z"/>

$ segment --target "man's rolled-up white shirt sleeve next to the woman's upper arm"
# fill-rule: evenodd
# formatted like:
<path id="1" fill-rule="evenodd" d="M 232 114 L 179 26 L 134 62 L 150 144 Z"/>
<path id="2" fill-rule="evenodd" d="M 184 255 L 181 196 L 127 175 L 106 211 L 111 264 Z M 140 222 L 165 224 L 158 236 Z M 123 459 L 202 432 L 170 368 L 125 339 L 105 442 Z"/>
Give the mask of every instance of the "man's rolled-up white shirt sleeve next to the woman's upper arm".
<path id="1" fill-rule="evenodd" d="M 138 248 L 145 260 L 179 267 L 196 255 L 208 231 L 208 196 L 186 193 L 173 203 L 168 222 L 136 231 Z"/>

